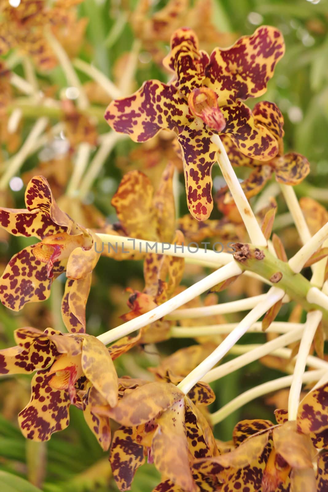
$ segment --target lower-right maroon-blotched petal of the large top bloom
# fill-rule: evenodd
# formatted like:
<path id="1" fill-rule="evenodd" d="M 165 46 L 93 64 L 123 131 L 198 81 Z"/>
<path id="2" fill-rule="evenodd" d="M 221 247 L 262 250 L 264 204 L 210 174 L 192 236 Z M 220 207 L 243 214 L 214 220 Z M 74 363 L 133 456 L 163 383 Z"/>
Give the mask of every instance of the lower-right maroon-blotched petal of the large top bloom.
<path id="1" fill-rule="evenodd" d="M 275 157 L 279 150 L 278 142 L 265 126 L 256 123 L 246 104 L 237 101 L 220 109 L 226 121 L 222 133 L 231 138 L 242 154 L 260 161 Z"/>

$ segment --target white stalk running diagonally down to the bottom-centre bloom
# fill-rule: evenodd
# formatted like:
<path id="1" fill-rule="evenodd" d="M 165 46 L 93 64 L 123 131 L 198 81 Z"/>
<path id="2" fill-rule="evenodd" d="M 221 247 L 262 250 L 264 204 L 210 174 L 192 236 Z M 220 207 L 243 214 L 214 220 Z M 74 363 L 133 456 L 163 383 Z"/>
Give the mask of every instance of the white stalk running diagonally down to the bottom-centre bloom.
<path id="1" fill-rule="evenodd" d="M 207 372 L 213 368 L 222 357 L 229 352 L 231 347 L 246 333 L 246 331 L 255 323 L 259 317 L 270 309 L 276 302 L 280 301 L 285 295 L 284 291 L 277 287 L 271 287 L 267 293 L 266 299 L 262 303 L 253 307 L 245 318 L 237 325 L 237 327 L 229 333 L 229 335 L 220 343 L 220 345 L 202 361 L 195 369 L 193 369 L 185 379 L 178 384 L 178 388 L 187 394 L 191 388 L 200 380 L 202 380 Z"/>

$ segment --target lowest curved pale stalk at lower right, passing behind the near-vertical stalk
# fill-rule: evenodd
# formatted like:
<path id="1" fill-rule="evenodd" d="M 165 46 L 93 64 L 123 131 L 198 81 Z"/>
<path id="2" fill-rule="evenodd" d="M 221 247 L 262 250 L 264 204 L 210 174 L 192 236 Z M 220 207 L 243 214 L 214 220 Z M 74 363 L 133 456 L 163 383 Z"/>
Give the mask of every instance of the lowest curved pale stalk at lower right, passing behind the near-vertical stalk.
<path id="1" fill-rule="evenodd" d="M 327 369 L 304 372 L 302 376 L 302 382 L 311 383 L 313 381 L 318 381 L 318 379 L 320 379 L 325 372 L 327 372 Z M 222 406 L 222 408 L 220 408 L 217 412 L 212 413 L 212 424 L 218 424 L 226 417 L 228 417 L 228 415 L 230 415 L 232 412 L 246 405 L 246 403 L 254 400 L 255 398 L 267 395 L 268 393 L 272 393 L 273 391 L 278 391 L 282 388 L 288 388 L 288 386 L 292 382 L 292 379 L 293 376 L 279 377 L 278 379 L 273 379 L 273 381 L 268 381 L 267 383 L 260 384 L 259 386 L 255 386 L 255 388 L 251 388 L 245 393 L 242 393 L 237 398 L 234 398 L 234 400 L 231 400 L 229 401 L 229 403 Z"/>

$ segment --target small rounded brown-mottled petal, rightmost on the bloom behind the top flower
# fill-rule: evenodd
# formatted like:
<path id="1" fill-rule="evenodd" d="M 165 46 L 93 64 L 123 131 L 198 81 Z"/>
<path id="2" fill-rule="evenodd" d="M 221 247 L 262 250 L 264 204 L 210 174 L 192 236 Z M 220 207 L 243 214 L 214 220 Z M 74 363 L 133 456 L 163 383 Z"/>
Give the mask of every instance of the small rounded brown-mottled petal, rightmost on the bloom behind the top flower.
<path id="1" fill-rule="evenodd" d="M 310 172 L 310 164 L 306 157 L 291 152 L 273 161 L 275 179 L 283 184 L 300 184 Z"/>

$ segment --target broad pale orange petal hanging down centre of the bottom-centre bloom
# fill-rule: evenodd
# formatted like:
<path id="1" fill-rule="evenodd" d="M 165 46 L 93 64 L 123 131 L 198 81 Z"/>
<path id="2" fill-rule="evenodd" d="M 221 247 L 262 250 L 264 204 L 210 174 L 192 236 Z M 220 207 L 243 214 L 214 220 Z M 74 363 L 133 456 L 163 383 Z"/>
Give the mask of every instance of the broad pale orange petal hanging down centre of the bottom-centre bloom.
<path id="1" fill-rule="evenodd" d="M 152 442 L 156 468 L 186 492 L 196 491 L 189 461 L 184 399 L 167 408 L 157 424 Z"/>

